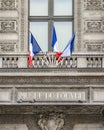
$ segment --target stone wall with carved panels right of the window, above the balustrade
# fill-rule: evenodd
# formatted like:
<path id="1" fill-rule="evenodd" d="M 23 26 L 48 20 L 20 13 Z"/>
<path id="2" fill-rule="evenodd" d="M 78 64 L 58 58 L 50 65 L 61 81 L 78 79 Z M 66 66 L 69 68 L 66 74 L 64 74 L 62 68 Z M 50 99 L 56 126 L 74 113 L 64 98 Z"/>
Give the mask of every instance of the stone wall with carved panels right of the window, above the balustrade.
<path id="1" fill-rule="evenodd" d="M 104 1 L 75 1 L 76 52 L 101 54 L 104 52 Z"/>

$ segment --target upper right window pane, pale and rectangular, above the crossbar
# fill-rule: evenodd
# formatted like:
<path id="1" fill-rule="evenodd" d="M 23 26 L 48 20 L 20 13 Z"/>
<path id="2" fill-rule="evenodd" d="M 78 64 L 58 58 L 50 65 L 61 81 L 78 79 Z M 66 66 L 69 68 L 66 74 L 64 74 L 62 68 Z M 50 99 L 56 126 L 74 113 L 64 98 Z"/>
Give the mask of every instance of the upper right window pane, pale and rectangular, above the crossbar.
<path id="1" fill-rule="evenodd" d="M 72 15 L 72 0 L 54 0 L 54 15 Z"/>

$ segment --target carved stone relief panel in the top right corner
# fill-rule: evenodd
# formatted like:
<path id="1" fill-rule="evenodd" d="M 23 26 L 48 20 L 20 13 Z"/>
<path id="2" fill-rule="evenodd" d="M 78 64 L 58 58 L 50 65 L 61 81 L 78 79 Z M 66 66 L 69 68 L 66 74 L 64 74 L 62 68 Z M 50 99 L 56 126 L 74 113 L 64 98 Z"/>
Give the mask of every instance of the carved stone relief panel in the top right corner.
<path id="1" fill-rule="evenodd" d="M 86 10 L 104 10 L 104 0 L 84 0 Z"/>

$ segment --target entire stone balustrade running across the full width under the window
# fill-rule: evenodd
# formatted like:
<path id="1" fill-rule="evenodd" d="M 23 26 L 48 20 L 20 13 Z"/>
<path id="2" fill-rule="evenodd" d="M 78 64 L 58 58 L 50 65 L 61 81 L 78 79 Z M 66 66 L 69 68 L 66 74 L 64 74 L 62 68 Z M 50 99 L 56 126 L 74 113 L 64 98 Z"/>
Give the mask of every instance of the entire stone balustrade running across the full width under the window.
<path id="1" fill-rule="evenodd" d="M 58 58 L 54 53 L 42 53 L 33 57 L 32 68 L 103 68 L 103 55 L 78 55 L 71 57 Z M 28 56 L 0 56 L 0 68 L 29 68 Z"/>

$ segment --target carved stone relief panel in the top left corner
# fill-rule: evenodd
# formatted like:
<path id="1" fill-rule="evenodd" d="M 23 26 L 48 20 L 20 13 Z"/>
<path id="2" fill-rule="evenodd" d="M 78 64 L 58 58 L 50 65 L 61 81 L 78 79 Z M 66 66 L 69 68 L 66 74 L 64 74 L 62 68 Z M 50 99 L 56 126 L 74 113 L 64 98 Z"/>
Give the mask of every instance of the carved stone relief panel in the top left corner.
<path id="1" fill-rule="evenodd" d="M 17 8 L 17 0 L 0 0 L 0 10 L 14 10 Z"/>

